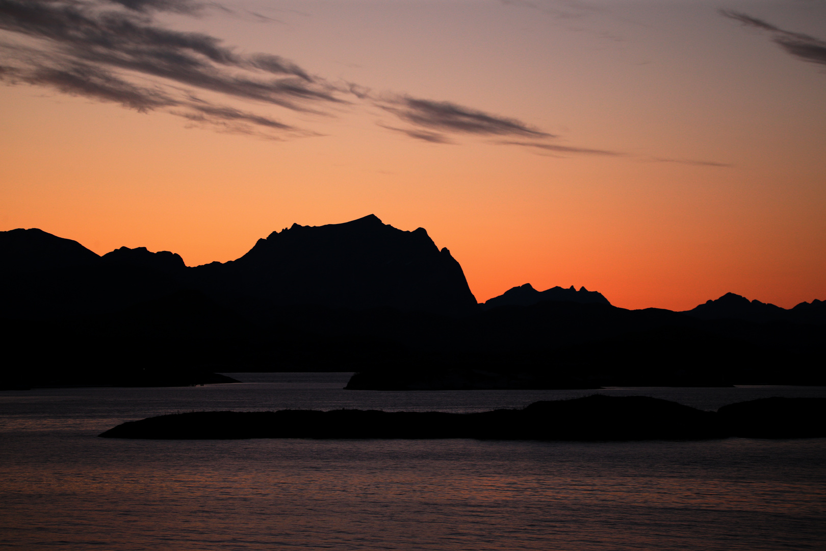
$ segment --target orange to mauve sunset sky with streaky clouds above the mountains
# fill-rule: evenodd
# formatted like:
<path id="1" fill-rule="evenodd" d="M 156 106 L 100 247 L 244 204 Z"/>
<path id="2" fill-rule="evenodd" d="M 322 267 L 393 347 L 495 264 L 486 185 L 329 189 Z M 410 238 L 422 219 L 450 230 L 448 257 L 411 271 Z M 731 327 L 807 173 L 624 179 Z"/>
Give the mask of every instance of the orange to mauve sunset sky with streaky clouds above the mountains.
<path id="1" fill-rule="evenodd" d="M 375 214 L 479 302 L 826 299 L 826 0 L 0 0 L 0 230 L 236 259 Z"/>

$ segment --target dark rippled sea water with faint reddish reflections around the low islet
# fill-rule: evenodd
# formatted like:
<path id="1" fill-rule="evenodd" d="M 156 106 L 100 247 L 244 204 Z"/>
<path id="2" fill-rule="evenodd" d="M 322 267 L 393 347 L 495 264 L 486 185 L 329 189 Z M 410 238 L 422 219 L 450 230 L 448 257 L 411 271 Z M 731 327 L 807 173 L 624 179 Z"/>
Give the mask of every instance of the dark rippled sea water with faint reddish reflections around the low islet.
<path id="1" fill-rule="evenodd" d="M 117 440 L 125 420 L 285 407 L 484 411 L 592 391 L 244 384 L 0 392 L 0 548 L 826 549 L 826 439 Z M 612 389 L 713 410 L 826 388 Z"/>

